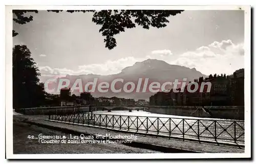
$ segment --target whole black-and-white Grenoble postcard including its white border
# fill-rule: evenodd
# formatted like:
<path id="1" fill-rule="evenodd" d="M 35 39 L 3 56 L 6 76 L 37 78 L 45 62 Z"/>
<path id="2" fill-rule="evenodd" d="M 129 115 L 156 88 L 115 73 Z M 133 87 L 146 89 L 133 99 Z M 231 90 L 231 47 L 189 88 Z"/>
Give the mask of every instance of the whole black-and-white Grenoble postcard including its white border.
<path id="1" fill-rule="evenodd" d="M 250 158 L 250 10 L 6 6 L 6 158 Z"/>

